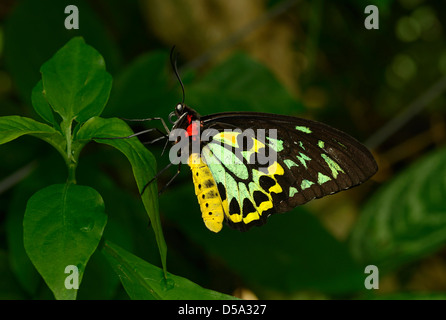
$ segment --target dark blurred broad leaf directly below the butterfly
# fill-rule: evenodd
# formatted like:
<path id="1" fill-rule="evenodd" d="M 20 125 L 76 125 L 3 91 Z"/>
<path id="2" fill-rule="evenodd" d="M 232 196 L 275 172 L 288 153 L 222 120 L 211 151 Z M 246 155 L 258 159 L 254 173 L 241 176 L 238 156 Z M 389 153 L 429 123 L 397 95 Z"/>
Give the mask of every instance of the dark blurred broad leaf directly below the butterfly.
<path id="1" fill-rule="evenodd" d="M 364 288 L 364 269 L 355 263 L 347 245 L 303 207 L 272 215 L 267 224 L 248 232 L 225 225 L 215 234 L 203 223 L 190 179 L 188 185 L 166 191 L 160 197 L 160 209 L 199 252 L 218 258 L 259 294 L 262 289 L 339 294 Z"/>

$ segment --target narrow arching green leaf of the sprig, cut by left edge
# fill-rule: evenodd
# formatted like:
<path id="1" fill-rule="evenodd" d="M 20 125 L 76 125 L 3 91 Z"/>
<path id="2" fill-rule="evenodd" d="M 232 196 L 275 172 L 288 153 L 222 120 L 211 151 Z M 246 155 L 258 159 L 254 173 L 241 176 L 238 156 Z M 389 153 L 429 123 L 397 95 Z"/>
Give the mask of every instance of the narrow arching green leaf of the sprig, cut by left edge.
<path id="1" fill-rule="evenodd" d="M 62 155 L 65 154 L 65 138 L 53 127 L 20 116 L 0 117 L 0 144 L 25 134 L 40 138 L 55 147 Z"/>

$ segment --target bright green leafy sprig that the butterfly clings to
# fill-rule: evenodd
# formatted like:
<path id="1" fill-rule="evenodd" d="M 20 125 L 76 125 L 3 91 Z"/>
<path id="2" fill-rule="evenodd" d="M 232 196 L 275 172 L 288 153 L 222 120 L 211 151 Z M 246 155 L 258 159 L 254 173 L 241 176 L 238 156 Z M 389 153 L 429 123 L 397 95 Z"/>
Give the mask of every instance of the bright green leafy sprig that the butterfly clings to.
<path id="1" fill-rule="evenodd" d="M 67 182 L 41 189 L 28 200 L 23 238 L 27 255 L 56 299 L 76 299 L 77 290 L 66 288 L 65 268 L 76 266 L 79 281 L 82 280 L 107 221 L 100 194 L 90 187 L 76 184 L 79 154 L 93 137 L 125 137 L 132 131 L 119 119 L 94 117 L 101 114 L 108 100 L 111 76 L 105 71 L 100 54 L 82 38 L 69 41 L 43 65 L 41 73 L 43 81 L 39 81 L 33 90 L 33 105 L 37 113 L 55 127 L 25 117 L 2 117 L 1 143 L 30 134 L 50 143 L 65 160 Z M 53 111 L 62 119 L 60 123 L 56 122 Z M 76 123 L 80 129 L 72 130 Z M 154 176 L 155 160 L 136 138 L 97 141 L 112 145 L 127 156 L 139 190 Z M 152 184 L 142 198 L 166 272 L 166 244 L 158 216 L 156 185 Z M 18 254 L 23 256 L 23 252 Z M 21 268 L 20 272 L 27 277 L 30 270 Z M 33 286 L 26 287 L 31 293 L 35 290 Z"/>

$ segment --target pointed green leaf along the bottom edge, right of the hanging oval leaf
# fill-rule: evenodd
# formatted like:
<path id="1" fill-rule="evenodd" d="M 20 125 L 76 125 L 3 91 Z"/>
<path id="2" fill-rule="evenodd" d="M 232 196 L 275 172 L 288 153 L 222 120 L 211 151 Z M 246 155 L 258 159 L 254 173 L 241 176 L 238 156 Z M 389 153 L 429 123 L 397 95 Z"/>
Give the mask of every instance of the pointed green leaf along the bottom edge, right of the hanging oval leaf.
<path id="1" fill-rule="evenodd" d="M 204 289 L 192 281 L 168 273 L 106 241 L 102 253 L 121 279 L 127 294 L 135 300 L 228 300 L 232 296 Z"/>

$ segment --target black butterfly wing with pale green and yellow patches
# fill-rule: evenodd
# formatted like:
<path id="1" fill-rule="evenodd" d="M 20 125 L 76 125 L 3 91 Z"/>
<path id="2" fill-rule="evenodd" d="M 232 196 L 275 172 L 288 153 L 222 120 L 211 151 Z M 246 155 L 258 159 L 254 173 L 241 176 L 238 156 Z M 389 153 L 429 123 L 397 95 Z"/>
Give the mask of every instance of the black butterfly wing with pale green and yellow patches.
<path id="1" fill-rule="evenodd" d="M 246 169 L 225 167 L 230 172 L 224 178 L 214 177 L 221 197 L 228 201 L 229 212 L 236 214 L 227 217 L 227 222 L 237 229 L 261 225 L 270 214 L 286 212 L 312 199 L 354 187 L 377 171 L 376 162 L 365 146 L 348 134 L 317 121 L 251 112 L 214 114 L 202 117 L 201 121 L 203 129 L 212 128 L 220 133 L 235 129 L 254 132 L 266 129 L 268 133 L 276 130 L 276 141 L 269 138 L 258 141 L 277 151 L 280 168 L 274 167 L 270 175 L 262 174 L 263 164 L 245 159 L 238 165 Z M 208 148 L 222 140 L 209 141 Z M 242 171 L 247 171 L 248 176 L 237 174 Z M 235 183 L 229 183 L 231 181 Z M 259 210 L 259 206 L 265 210 Z M 258 216 L 246 218 L 253 207 Z"/>

